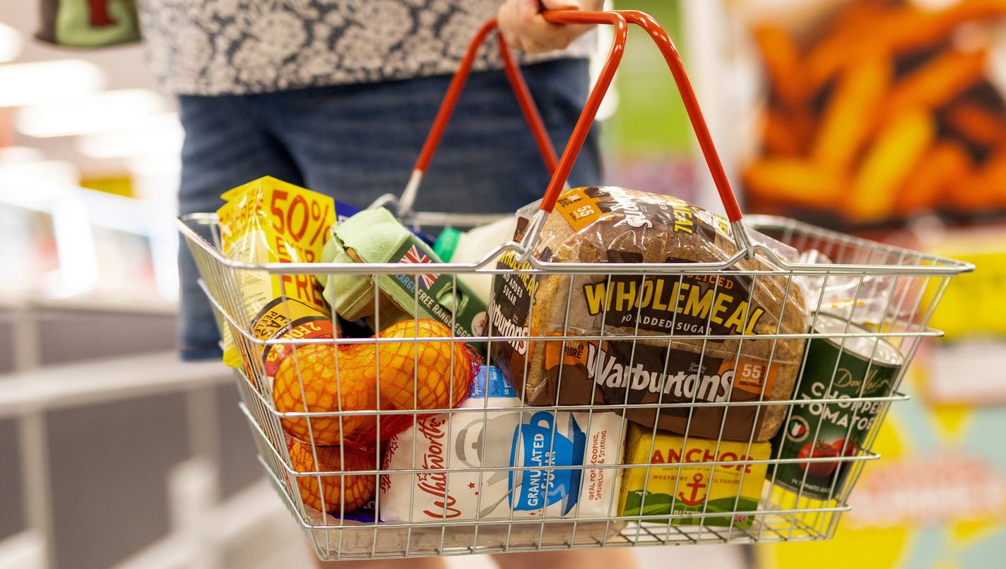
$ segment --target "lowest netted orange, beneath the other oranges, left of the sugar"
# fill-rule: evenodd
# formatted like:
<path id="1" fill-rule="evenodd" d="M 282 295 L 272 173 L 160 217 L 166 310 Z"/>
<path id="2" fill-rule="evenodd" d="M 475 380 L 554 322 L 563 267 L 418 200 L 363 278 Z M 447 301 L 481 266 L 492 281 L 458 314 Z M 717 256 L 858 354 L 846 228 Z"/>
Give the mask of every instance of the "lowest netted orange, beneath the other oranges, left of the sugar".
<path id="1" fill-rule="evenodd" d="M 289 441 L 290 462 L 298 472 L 329 472 L 316 476 L 295 476 L 304 504 L 318 511 L 338 516 L 364 506 L 374 497 L 373 475 L 343 475 L 353 470 L 376 469 L 376 452 L 373 448 L 352 446 L 316 446 L 318 464 L 315 464 L 311 445 L 296 440 Z M 340 459 L 343 458 L 343 459 Z M 321 480 L 321 491 L 318 481 Z M 324 504 L 322 504 L 324 498 Z M 345 507 L 343 509 L 343 501 Z"/>

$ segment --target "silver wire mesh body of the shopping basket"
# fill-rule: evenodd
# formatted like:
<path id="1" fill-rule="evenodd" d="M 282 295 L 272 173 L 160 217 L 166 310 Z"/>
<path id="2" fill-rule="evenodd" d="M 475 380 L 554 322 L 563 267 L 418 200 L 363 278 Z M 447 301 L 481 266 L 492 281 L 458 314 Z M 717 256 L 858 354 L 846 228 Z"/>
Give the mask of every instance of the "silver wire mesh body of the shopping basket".
<path id="1" fill-rule="evenodd" d="M 485 220 L 485 216 L 457 216 L 448 214 L 417 214 L 411 221 L 416 227 L 444 227 L 444 226 L 466 226 Z M 292 461 L 291 452 L 288 446 L 288 435 L 284 429 L 284 419 L 302 419 L 309 425 L 318 424 L 316 421 L 322 419 L 335 419 L 342 424 L 342 421 L 352 417 L 367 414 L 367 411 L 330 411 L 330 412 L 281 412 L 278 411 L 273 401 L 273 396 L 269 388 L 269 379 L 265 373 L 261 358 L 250 358 L 250 367 L 242 371 L 237 371 L 237 384 L 241 396 L 241 409 L 244 411 L 248 423 L 252 427 L 259 455 L 265 465 L 277 492 L 290 508 L 294 518 L 303 528 L 312 546 L 322 559 L 364 559 L 364 558 L 396 558 L 411 556 L 430 555 L 459 555 L 469 553 L 493 553 L 508 551 L 533 551 L 533 550 L 555 550 L 588 547 L 618 547 L 618 546 L 644 546 L 644 545 L 669 545 L 669 544 L 696 544 L 696 543 L 761 543 L 761 542 L 784 542 L 784 541 L 811 541 L 830 538 L 839 523 L 843 512 L 848 510 L 847 500 L 853 491 L 855 483 L 864 467 L 864 464 L 878 456 L 870 448 L 873 439 L 883 421 L 887 407 L 891 401 L 904 399 L 905 396 L 897 391 L 904 369 L 911 361 L 919 343 L 928 337 L 937 337 L 938 331 L 929 328 L 929 321 L 936 309 L 944 290 L 949 284 L 952 277 L 970 267 L 964 263 L 936 257 L 921 252 L 908 249 L 897 248 L 870 242 L 864 239 L 854 238 L 839 233 L 826 231 L 813 226 L 809 226 L 794 220 L 776 217 L 751 216 L 746 220 L 746 224 L 756 230 L 768 234 L 798 251 L 816 249 L 833 261 L 833 264 L 822 265 L 797 265 L 791 264 L 786 268 L 778 268 L 771 272 L 759 271 L 733 271 L 733 274 L 749 276 L 752 280 L 759 278 L 779 278 L 785 279 L 786 290 L 789 291 L 797 282 L 796 279 L 810 278 L 817 279 L 819 284 L 834 282 L 836 279 L 844 279 L 852 291 L 853 299 L 849 307 L 849 313 L 845 315 L 846 320 L 854 320 L 857 307 L 860 301 L 867 297 L 871 299 L 872 310 L 875 313 L 867 329 L 847 327 L 844 331 L 822 333 L 807 332 L 803 334 L 769 334 L 760 335 L 760 340 L 775 343 L 781 340 L 797 339 L 801 342 L 807 339 L 825 339 L 844 349 L 847 342 L 862 341 L 868 339 L 876 342 L 883 339 L 889 342 L 903 358 L 904 365 L 893 378 L 893 388 L 889 394 L 879 397 L 860 396 L 851 399 L 831 398 L 828 393 L 823 394 L 815 402 L 817 404 L 861 404 L 871 405 L 876 411 L 876 419 L 870 424 L 867 435 L 855 453 L 849 456 L 838 456 L 831 460 L 838 461 L 842 468 L 848 470 L 848 476 L 844 484 L 833 485 L 829 491 L 828 499 L 816 500 L 803 496 L 801 492 L 790 492 L 780 488 L 773 483 L 776 481 L 778 467 L 788 463 L 794 463 L 800 458 L 781 457 L 777 448 L 773 449 L 772 456 L 764 459 L 753 459 L 748 456 L 734 456 L 733 459 L 723 459 L 716 452 L 712 461 L 703 462 L 704 466 L 709 466 L 709 478 L 715 476 L 716 469 L 738 469 L 746 471 L 752 465 L 768 465 L 770 468 L 766 484 L 763 485 L 762 495 L 758 498 L 758 507 L 754 510 L 734 510 L 734 511 L 706 511 L 708 496 L 706 497 L 706 507 L 698 512 L 668 514 L 666 512 L 656 514 L 639 514 L 632 516 L 620 516 L 618 508 L 618 494 L 609 493 L 609 505 L 607 514 L 604 516 L 584 516 L 579 513 L 579 504 L 565 517 L 556 518 L 546 515 L 544 510 L 538 518 L 515 517 L 510 511 L 506 519 L 487 518 L 478 516 L 481 505 L 476 507 L 476 516 L 452 517 L 446 504 L 447 491 L 445 491 L 445 502 L 443 516 L 434 516 L 429 520 L 410 523 L 379 523 L 374 520 L 359 520 L 350 516 L 346 511 L 344 502 L 342 504 L 326 504 L 322 499 L 323 509 L 329 514 L 324 514 L 318 509 L 306 504 L 302 498 L 302 484 L 309 488 L 324 488 L 325 484 L 335 484 L 343 491 L 351 486 L 354 477 L 367 477 L 373 479 L 375 487 L 380 486 L 382 472 L 388 470 L 381 469 L 382 446 L 378 445 L 371 451 L 374 453 L 370 468 L 340 468 L 340 469 L 308 469 L 300 470 Z M 242 350 L 247 353 L 261 353 L 267 345 L 289 344 L 293 346 L 294 354 L 299 349 L 303 349 L 310 344 L 327 344 L 332 346 L 348 346 L 353 344 L 379 344 L 389 340 L 373 339 L 336 339 L 336 340 L 284 340 L 284 341 L 263 341 L 255 338 L 249 333 L 250 321 L 246 311 L 242 309 L 244 299 L 240 282 L 242 276 L 248 272 L 260 272 L 268 274 L 307 274 L 303 265 L 293 264 L 268 264 L 250 265 L 225 259 L 219 252 L 219 235 L 216 226 L 215 216 L 212 214 L 195 214 L 181 218 L 179 225 L 185 235 L 188 246 L 195 258 L 196 264 L 201 274 L 201 286 L 209 297 L 214 308 L 217 323 L 222 331 L 228 333 Z M 430 270 L 432 265 L 425 265 L 415 270 L 414 266 L 397 265 L 396 267 L 378 266 L 368 264 L 316 264 L 310 267 L 310 275 L 318 273 L 351 273 L 363 278 L 376 280 L 381 274 L 404 274 L 409 278 L 421 278 L 424 268 Z M 454 274 L 455 287 L 459 275 L 470 273 L 484 274 L 505 274 L 514 273 L 511 269 L 496 268 L 495 262 L 487 262 L 482 266 L 443 264 L 436 265 L 438 273 Z M 621 265 L 594 265 L 590 267 L 575 266 L 566 267 L 559 264 L 536 265 L 530 269 L 520 271 L 531 276 L 541 275 L 573 275 L 591 274 L 593 278 L 600 281 L 607 279 L 611 282 L 613 275 L 630 274 L 634 277 L 646 279 L 648 277 L 677 277 L 680 281 L 685 275 L 694 274 L 723 274 L 722 270 L 709 267 L 696 267 L 694 265 L 662 265 L 644 270 L 639 267 L 635 269 L 631 266 Z M 568 286 L 573 286 L 573 278 L 568 278 Z M 416 287 L 418 291 L 418 287 Z M 378 288 L 374 288 L 375 305 L 379 306 Z M 811 314 L 812 326 L 822 317 L 823 311 L 820 308 L 820 299 L 815 305 L 815 299 L 809 299 L 811 307 L 818 306 Z M 418 295 L 415 298 L 416 306 L 420 303 Z M 568 306 L 566 308 L 568 311 Z M 607 308 L 606 308 L 607 311 Z M 710 314 L 711 316 L 711 314 Z M 568 317 L 568 315 L 567 315 Z M 379 308 L 375 315 L 374 328 L 382 329 L 381 315 Z M 505 336 L 494 331 L 492 320 L 489 322 L 489 330 L 484 337 L 474 340 L 453 336 L 444 339 L 445 342 L 480 342 L 491 345 L 494 342 L 507 341 L 552 341 L 562 342 L 563 347 L 567 342 L 574 341 L 605 341 L 610 339 L 604 332 L 583 335 L 568 330 L 565 334 L 555 336 L 528 337 L 524 335 Z M 670 342 L 675 340 L 673 334 L 667 336 L 641 336 L 624 335 L 619 336 L 621 342 L 632 342 L 635 345 L 637 340 L 646 339 L 648 341 L 663 340 Z M 715 335 L 691 335 L 689 341 L 717 341 L 723 339 Z M 422 342 L 421 338 L 399 338 L 396 342 Z M 429 341 L 429 340 L 428 340 Z M 335 349 L 335 348 L 333 348 Z M 258 352 L 257 352 L 258 350 Z M 492 350 L 489 350 L 492 353 Z M 773 351 L 774 353 L 774 351 Z M 807 351 L 804 356 L 806 358 Z M 769 365 L 772 365 L 770 356 Z M 734 365 L 740 358 L 740 348 L 737 348 L 734 356 Z M 492 364 L 491 355 L 487 364 Z M 806 360 L 801 367 L 806 365 Z M 377 366 L 380 366 L 378 361 Z M 416 372 L 417 373 L 417 372 Z M 561 374 L 560 374 L 561 375 Z M 800 391 L 798 378 L 796 391 Z M 301 380 L 303 382 L 303 379 Z M 836 381 L 836 375 L 831 377 L 831 383 Z M 453 388 L 453 384 L 452 388 Z M 558 389 L 561 389 L 561 384 Z M 830 392 L 830 389 L 829 389 Z M 764 394 L 764 393 L 763 393 Z M 336 393 L 339 397 L 341 394 Z M 796 397 L 796 396 L 794 396 Z M 488 399 L 487 399 L 488 401 Z M 773 405 L 787 405 L 787 419 L 793 412 L 794 403 L 799 403 L 797 399 L 771 401 Z M 806 401 L 803 401 L 806 403 Z M 428 415 L 430 413 L 443 413 L 445 416 L 454 417 L 467 413 L 477 414 L 483 417 L 483 421 L 488 420 L 490 414 L 498 411 L 519 411 L 521 418 L 531 416 L 534 413 L 546 412 L 568 412 L 574 411 L 583 413 L 585 419 L 585 432 L 591 432 L 592 421 L 596 420 L 597 413 L 607 412 L 620 415 L 622 429 L 619 436 L 624 439 L 628 422 L 624 420 L 626 413 L 633 410 L 651 409 L 655 412 L 671 412 L 673 409 L 687 410 L 688 416 L 695 409 L 703 405 L 722 407 L 728 409 L 737 406 L 754 407 L 754 415 L 762 412 L 763 408 L 770 402 L 757 399 L 754 401 L 722 401 L 715 404 L 698 401 L 695 398 L 686 402 L 653 402 L 653 403 L 631 403 L 628 399 L 623 403 L 614 404 L 579 404 L 579 405 L 544 405 L 521 407 L 493 407 L 483 405 L 478 408 L 463 409 L 433 409 L 406 411 L 369 411 L 370 415 L 388 416 L 398 414 L 408 416 Z M 303 402 L 302 408 L 309 408 L 308 402 Z M 726 413 L 723 413 L 725 422 Z M 856 414 L 853 413 L 853 419 Z M 784 425 L 788 423 L 784 421 Z M 380 423 L 378 422 L 378 425 Z M 451 441 L 452 421 L 446 421 L 446 440 Z M 556 437 L 556 427 L 553 421 L 551 427 L 551 440 L 554 443 Z M 310 428 L 310 427 L 309 427 Z M 379 428 L 379 426 L 378 426 Z M 415 432 L 415 422 L 409 427 Z M 815 427 L 812 426 L 812 429 Z M 654 427 L 655 429 L 655 427 Z M 313 432 L 313 431 L 312 431 Z M 722 432 L 722 425 L 720 426 Z M 850 430 L 851 432 L 851 430 Z M 560 433 L 561 434 L 561 433 Z M 813 432 L 811 433 L 814 434 Z M 313 437 L 314 435 L 312 435 Z M 686 429 L 684 438 L 687 440 L 689 433 Z M 812 439 L 813 440 L 813 439 Z M 722 444 L 721 439 L 714 440 L 718 450 Z M 741 441 L 743 442 L 743 441 Z M 751 439 L 746 441 L 747 448 L 754 444 L 753 428 Z M 651 456 L 653 452 L 653 442 L 651 442 Z M 550 447 L 550 446 L 549 446 Z M 314 463 L 319 464 L 318 452 L 320 447 L 311 445 L 311 453 Z M 327 450 L 324 450 L 327 451 Z M 483 450 L 484 451 L 484 450 Z M 519 478 L 522 472 L 534 470 L 543 472 L 544 476 L 560 476 L 563 469 L 576 469 L 583 466 L 542 466 L 540 464 L 508 465 L 508 466 L 470 466 L 465 464 L 448 463 L 438 467 L 431 467 L 429 464 L 417 460 L 413 452 L 410 468 L 398 468 L 395 472 L 408 476 L 431 476 L 443 481 L 445 488 L 450 488 L 452 476 L 477 476 L 478 484 L 474 490 L 478 490 L 484 479 L 494 473 L 506 471 L 511 478 Z M 749 454 L 749 451 L 748 451 Z M 803 463 L 813 463 L 815 460 L 823 461 L 827 458 L 803 458 Z M 342 457 L 345 460 L 345 457 Z M 624 476 L 629 469 L 626 464 L 604 463 L 592 464 L 595 470 L 604 470 L 613 477 Z M 634 463 L 632 468 L 645 469 L 649 475 L 651 468 L 677 468 L 680 473 L 686 464 L 678 462 L 673 466 L 667 463 Z M 741 475 L 742 477 L 743 475 Z M 647 477 L 649 484 L 649 477 Z M 678 488 L 681 488 L 680 486 Z M 740 487 L 737 490 L 739 500 Z M 644 486 L 644 492 L 646 487 Z M 414 486 L 411 493 L 415 493 Z M 324 493 L 321 493 L 324 494 Z M 345 493 L 342 493 L 345 496 Z M 694 498 L 694 497 L 693 497 Z M 510 500 L 509 497 L 506 500 Z M 675 499 L 676 500 L 676 499 Z M 376 497 L 374 509 L 381 510 L 379 494 Z M 735 501 L 734 504 L 737 504 Z M 673 508 L 673 503 L 672 503 Z M 723 524 L 722 520 L 730 519 L 729 523 Z M 739 517 L 739 518 L 735 518 Z M 684 519 L 691 520 L 691 525 L 683 525 Z M 733 520 L 752 520 L 750 525 L 734 524 Z M 716 524 L 707 521 L 717 520 Z"/>

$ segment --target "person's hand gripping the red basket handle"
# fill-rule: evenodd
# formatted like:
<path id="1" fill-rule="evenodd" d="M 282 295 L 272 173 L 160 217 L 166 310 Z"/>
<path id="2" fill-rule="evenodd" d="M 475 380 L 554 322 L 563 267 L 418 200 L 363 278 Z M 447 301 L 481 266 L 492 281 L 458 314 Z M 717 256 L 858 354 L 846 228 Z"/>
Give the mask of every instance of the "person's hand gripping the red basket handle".
<path id="1" fill-rule="evenodd" d="M 544 10 L 600 10 L 605 0 L 506 0 L 496 19 L 500 33 L 512 47 L 528 53 L 565 49 L 590 25 L 555 23 Z"/>

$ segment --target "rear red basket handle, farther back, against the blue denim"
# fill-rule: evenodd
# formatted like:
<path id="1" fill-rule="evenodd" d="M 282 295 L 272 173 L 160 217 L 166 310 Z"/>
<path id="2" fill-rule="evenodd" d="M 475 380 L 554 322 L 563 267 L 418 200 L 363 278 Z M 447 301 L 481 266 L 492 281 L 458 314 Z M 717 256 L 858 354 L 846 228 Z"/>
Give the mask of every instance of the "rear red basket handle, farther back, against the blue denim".
<path id="1" fill-rule="evenodd" d="M 420 184 L 423 182 L 423 177 L 430 168 L 430 162 L 433 161 L 437 147 L 440 146 L 441 139 L 444 137 L 444 131 L 447 129 L 447 124 L 451 121 L 458 98 L 461 96 L 465 82 L 468 80 L 468 75 L 472 71 L 472 64 L 475 62 L 475 56 L 478 53 L 479 47 L 482 46 L 486 37 L 494 29 L 496 29 L 496 20 L 489 20 L 479 28 L 472 42 L 468 45 L 468 50 L 461 60 L 461 65 L 455 72 L 454 78 L 451 79 L 447 94 L 444 96 L 444 102 L 441 104 L 440 111 L 437 112 L 437 118 L 434 120 L 433 128 L 430 129 L 430 134 L 423 145 L 423 150 L 420 152 L 420 158 L 415 161 L 415 166 L 412 167 L 412 174 L 408 178 L 405 190 L 398 199 L 399 215 L 411 211 L 412 205 L 415 203 L 415 195 Z M 514 96 L 517 98 L 520 111 L 523 113 L 524 119 L 531 129 L 531 135 L 534 137 L 534 143 L 541 153 L 545 168 L 548 169 L 549 174 L 554 173 L 558 159 L 555 154 L 555 148 L 552 146 L 552 141 L 548 137 L 548 131 L 545 129 L 545 124 L 541 120 L 541 115 L 534 104 L 531 91 L 527 88 L 527 83 L 524 81 L 524 75 L 521 73 L 516 61 L 514 61 L 513 54 L 510 52 L 506 40 L 503 39 L 502 34 L 497 34 L 496 39 L 499 45 L 500 57 L 503 59 L 503 69 L 506 71 L 507 80 L 510 82 Z"/>

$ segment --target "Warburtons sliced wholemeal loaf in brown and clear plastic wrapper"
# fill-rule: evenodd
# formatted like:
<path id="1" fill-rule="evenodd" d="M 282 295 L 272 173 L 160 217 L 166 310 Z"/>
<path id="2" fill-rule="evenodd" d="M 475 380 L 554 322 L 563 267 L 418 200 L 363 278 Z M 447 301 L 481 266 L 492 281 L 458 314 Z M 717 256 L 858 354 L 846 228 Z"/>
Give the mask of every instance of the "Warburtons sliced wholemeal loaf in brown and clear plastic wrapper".
<path id="1" fill-rule="evenodd" d="M 537 203 L 518 212 L 515 240 L 523 239 L 536 209 Z M 806 332 L 799 282 L 772 272 L 762 256 L 706 274 L 616 275 L 603 266 L 719 262 L 736 252 L 726 219 L 677 198 L 617 187 L 565 190 L 532 254 L 601 264 L 592 274 L 498 275 L 491 324 L 501 339 L 493 342 L 492 363 L 532 405 L 788 399 L 804 340 L 759 337 Z M 516 260 L 509 251 L 499 267 L 529 267 Z M 555 339 L 522 339 L 535 336 Z M 591 336 L 602 339 L 568 339 Z M 682 405 L 629 407 L 626 416 L 690 436 L 767 440 L 785 411 L 785 405 Z"/>

